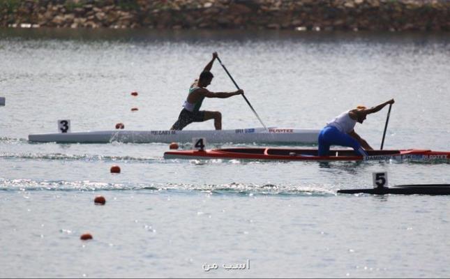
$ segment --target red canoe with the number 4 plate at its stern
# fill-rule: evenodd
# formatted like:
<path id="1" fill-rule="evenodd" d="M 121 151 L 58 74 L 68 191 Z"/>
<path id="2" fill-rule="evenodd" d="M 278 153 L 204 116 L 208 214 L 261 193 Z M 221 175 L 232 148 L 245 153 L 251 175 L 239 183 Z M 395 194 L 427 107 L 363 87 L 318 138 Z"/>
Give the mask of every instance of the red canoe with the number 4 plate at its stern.
<path id="1" fill-rule="evenodd" d="M 205 151 L 167 151 L 166 159 L 243 159 L 243 160 L 299 160 L 299 161 L 362 161 L 362 160 L 450 160 L 450 151 L 427 149 L 373 150 L 368 157 L 357 156 L 352 149 L 333 149 L 329 156 L 317 156 L 317 149 L 230 148 Z"/>

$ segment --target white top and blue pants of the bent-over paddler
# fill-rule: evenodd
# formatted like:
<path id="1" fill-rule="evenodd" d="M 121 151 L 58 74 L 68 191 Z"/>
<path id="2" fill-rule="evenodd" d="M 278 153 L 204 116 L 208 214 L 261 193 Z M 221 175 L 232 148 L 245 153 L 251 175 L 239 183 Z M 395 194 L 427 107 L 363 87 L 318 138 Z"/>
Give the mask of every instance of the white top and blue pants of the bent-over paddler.
<path id="1" fill-rule="evenodd" d="M 331 145 L 352 147 L 358 154 L 368 156 L 361 144 L 354 137 L 348 135 L 357 124 L 357 121 L 350 117 L 349 112 L 350 110 L 339 114 L 320 131 L 319 156 L 328 156 Z"/>

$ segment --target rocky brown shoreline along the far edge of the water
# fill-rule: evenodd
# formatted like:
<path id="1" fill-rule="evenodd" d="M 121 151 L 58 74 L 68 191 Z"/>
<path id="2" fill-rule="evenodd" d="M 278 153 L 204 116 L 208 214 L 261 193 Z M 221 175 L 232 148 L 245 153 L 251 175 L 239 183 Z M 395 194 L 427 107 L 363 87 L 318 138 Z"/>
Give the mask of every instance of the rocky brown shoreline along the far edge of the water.
<path id="1" fill-rule="evenodd" d="M 0 0 L 0 27 L 450 31 L 450 1 Z"/>

